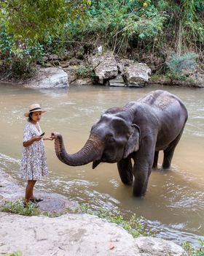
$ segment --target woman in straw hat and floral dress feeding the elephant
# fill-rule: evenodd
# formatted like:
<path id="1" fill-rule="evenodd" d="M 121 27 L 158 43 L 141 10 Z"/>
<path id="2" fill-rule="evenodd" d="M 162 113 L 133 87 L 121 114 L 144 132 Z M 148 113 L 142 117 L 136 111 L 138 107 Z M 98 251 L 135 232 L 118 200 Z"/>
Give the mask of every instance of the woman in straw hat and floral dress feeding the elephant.
<path id="1" fill-rule="evenodd" d="M 41 198 L 34 197 L 34 185 L 36 181 L 48 175 L 43 140 L 53 140 L 53 138 L 44 137 L 44 132 L 42 133 L 42 129 L 39 126 L 39 121 L 44 112 L 46 110 L 42 110 L 39 104 L 32 104 L 28 107 L 28 112 L 24 114 L 24 116 L 28 117 L 28 122 L 23 130 L 23 155 L 20 162 L 20 178 L 28 181 L 24 206 L 29 201 L 42 201 Z"/>

